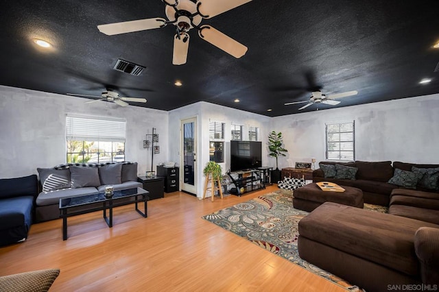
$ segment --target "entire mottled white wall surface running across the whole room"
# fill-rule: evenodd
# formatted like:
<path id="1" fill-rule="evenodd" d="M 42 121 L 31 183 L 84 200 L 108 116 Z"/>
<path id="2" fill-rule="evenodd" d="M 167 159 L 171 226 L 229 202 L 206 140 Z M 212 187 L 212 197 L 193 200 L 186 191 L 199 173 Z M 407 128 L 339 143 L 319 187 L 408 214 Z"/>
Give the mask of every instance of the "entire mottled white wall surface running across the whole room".
<path id="1" fill-rule="evenodd" d="M 67 113 L 117 117 L 127 120 L 126 160 L 139 162 L 139 174 L 151 169 L 151 149 L 143 149 L 145 134 L 156 127 L 161 162 L 180 164 L 180 120 L 198 117 L 198 197 L 202 196 L 202 169 L 209 161 L 209 121 L 226 123 L 223 171 L 230 167 L 230 125 L 261 129 L 264 166 L 275 167 L 268 156 L 267 137 L 283 132 L 287 156 L 279 168 L 295 162 L 317 163 L 324 159 L 324 123 L 355 120 L 356 159 L 367 161 L 439 163 L 439 95 L 384 101 L 270 118 L 242 110 L 199 102 L 170 112 L 97 102 L 88 99 L 0 86 L 0 178 L 36 173 L 37 167 L 54 167 L 66 160 L 65 116 Z M 244 136 L 246 139 L 246 136 Z"/>

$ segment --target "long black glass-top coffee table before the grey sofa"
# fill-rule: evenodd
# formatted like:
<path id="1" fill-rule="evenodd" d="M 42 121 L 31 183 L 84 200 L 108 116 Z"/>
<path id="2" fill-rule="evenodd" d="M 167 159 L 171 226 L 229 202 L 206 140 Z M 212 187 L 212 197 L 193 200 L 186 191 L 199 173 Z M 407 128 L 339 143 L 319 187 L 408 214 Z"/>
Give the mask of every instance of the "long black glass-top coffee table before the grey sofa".
<path id="1" fill-rule="evenodd" d="M 90 212 L 103 210 L 104 219 L 108 227 L 112 227 L 112 208 L 135 204 L 135 209 L 143 217 L 147 217 L 148 191 L 143 188 L 127 188 L 114 191 L 110 199 L 106 199 L 105 193 L 93 193 L 77 197 L 64 197 L 60 199 L 60 218 L 62 218 L 62 240 L 67 239 L 67 217 L 82 215 Z M 137 208 L 139 202 L 144 202 L 145 210 Z M 107 217 L 107 209 L 109 215 Z"/>

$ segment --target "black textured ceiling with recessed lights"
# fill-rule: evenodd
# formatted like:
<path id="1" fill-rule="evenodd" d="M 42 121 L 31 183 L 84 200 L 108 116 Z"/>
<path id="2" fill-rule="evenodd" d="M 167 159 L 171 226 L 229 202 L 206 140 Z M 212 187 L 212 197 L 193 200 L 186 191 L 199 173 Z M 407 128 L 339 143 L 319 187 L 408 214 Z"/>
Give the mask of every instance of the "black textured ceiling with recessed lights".
<path id="1" fill-rule="evenodd" d="M 147 99 L 136 106 L 172 110 L 208 101 L 270 117 L 334 107 L 283 105 L 308 99 L 310 86 L 326 94 L 358 90 L 335 107 L 429 95 L 439 93 L 439 49 L 432 48 L 438 11 L 437 0 L 253 0 L 202 21 L 246 45 L 244 57 L 235 59 L 191 29 L 187 64 L 174 66 L 174 25 L 115 36 L 97 29 L 165 18 L 160 0 L 5 1 L 0 84 L 84 95 L 109 87 Z M 32 38 L 54 48 L 43 51 Z M 118 58 L 146 69 L 139 76 L 115 71 Z M 433 81 L 418 84 L 425 77 Z"/>

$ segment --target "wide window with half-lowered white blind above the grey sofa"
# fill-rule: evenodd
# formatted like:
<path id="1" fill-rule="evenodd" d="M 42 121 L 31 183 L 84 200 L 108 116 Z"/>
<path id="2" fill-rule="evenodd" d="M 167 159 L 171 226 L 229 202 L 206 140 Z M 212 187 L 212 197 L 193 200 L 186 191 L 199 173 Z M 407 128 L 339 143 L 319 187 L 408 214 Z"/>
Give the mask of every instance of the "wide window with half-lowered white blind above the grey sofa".
<path id="1" fill-rule="evenodd" d="M 99 163 L 125 160 L 126 121 L 68 114 L 67 162 Z"/>

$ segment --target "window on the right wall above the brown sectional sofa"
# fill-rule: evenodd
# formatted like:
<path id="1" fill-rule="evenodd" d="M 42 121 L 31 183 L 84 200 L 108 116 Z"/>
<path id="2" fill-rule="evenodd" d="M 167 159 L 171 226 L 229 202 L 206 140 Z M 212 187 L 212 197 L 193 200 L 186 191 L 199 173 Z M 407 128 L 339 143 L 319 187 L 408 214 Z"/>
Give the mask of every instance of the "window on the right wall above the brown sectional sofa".
<path id="1" fill-rule="evenodd" d="M 326 158 L 355 160 L 355 121 L 326 125 Z"/>

